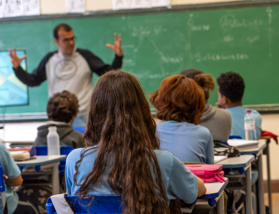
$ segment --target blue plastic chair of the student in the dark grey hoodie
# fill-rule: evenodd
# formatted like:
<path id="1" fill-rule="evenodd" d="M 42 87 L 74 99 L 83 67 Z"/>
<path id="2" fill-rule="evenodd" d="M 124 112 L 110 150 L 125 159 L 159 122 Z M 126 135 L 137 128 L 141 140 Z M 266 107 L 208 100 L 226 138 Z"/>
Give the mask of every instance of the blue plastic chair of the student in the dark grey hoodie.
<path id="1" fill-rule="evenodd" d="M 35 146 L 37 150 L 37 155 L 47 155 L 48 154 L 48 146 Z M 74 150 L 74 147 L 72 146 L 61 146 L 60 147 L 60 154 L 61 155 L 69 155 L 70 152 Z M 59 165 L 59 174 L 64 175 L 65 174 L 65 166 L 66 166 L 66 159 L 60 161 Z M 36 166 L 36 171 L 40 171 L 41 167 Z"/>

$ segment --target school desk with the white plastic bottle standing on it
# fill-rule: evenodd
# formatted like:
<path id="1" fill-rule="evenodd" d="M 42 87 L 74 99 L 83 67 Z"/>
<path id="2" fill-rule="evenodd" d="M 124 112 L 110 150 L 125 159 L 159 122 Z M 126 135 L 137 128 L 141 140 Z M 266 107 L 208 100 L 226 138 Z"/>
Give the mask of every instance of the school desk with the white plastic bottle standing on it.
<path id="1" fill-rule="evenodd" d="M 35 156 L 36 159 L 27 161 L 16 161 L 18 166 L 41 166 L 41 169 L 52 169 L 52 194 L 60 193 L 59 169 L 60 160 L 67 158 L 67 155 L 41 155 Z"/>

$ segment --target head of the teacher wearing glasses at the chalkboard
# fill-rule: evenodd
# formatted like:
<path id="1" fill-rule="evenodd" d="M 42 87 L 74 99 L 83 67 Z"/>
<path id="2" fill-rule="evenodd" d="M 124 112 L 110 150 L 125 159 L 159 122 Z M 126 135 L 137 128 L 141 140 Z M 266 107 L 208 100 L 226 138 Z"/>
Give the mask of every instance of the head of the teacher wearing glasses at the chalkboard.
<path id="1" fill-rule="evenodd" d="M 58 24 L 53 30 L 54 43 L 63 55 L 71 55 L 75 48 L 73 29 L 67 24 Z"/>

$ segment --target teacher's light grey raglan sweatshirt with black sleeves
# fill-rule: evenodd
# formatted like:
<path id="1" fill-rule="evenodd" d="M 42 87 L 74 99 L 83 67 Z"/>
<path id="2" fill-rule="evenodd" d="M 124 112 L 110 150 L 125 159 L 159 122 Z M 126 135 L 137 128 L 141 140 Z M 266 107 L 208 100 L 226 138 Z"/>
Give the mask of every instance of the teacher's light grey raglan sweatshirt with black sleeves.
<path id="1" fill-rule="evenodd" d="M 67 90 L 76 94 L 79 101 L 78 116 L 86 115 L 86 107 L 93 90 L 92 73 L 99 76 L 111 69 L 120 68 L 122 57 L 115 55 L 111 65 L 104 64 L 89 50 L 75 48 L 73 54 L 64 56 L 59 51 L 48 53 L 32 73 L 21 67 L 15 75 L 28 86 L 38 86 L 48 80 L 48 96 Z"/>

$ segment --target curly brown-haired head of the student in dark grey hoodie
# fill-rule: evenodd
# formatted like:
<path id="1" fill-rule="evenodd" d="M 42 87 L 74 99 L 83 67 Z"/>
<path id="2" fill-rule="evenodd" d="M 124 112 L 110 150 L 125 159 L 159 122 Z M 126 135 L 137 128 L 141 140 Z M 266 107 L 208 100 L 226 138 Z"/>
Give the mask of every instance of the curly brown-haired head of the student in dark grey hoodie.
<path id="1" fill-rule="evenodd" d="M 48 100 L 46 112 L 48 119 L 53 121 L 60 121 L 72 123 L 76 114 L 78 113 L 78 99 L 75 94 L 68 91 L 54 94 Z"/>

